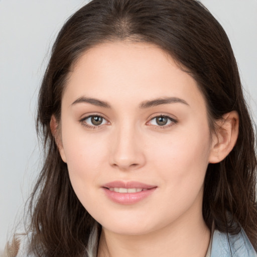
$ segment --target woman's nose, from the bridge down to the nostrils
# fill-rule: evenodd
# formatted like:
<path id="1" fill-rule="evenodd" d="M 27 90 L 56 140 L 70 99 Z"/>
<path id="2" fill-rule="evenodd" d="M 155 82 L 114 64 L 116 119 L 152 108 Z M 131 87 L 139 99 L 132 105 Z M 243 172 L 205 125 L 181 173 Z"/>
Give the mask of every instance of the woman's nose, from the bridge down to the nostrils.
<path id="1" fill-rule="evenodd" d="M 139 131 L 125 125 L 113 132 L 110 165 L 122 171 L 143 167 L 146 163 L 144 144 Z"/>

